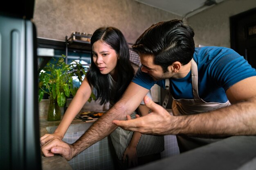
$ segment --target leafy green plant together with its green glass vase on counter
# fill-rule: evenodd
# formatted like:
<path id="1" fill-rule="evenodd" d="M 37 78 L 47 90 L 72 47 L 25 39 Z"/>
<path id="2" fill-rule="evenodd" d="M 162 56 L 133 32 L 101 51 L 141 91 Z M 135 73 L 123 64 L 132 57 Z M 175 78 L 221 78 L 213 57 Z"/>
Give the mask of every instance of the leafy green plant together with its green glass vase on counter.
<path id="1" fill-rule="evenodd" d="M 73 76 L 77 76 L 79 81 L 82 82 L 82 76 L 85 75 L 83 66 L 74 61 L 74 64 L 65 63 L 65 55 L 54 62 L 48 62 L 45 68 L 39 73 L 39 91 L 38 102 L 43 99 L 44 94 L 49 95 L 49 110 L 47 120 L 54 121 L 61 119 L 60 107 L 64 107 L 66 100 L 72 96 L 75 96 L 78 87 L 73 86 Z M 92 93 L 89 102 L 94 99 L 95 96 Z"/>

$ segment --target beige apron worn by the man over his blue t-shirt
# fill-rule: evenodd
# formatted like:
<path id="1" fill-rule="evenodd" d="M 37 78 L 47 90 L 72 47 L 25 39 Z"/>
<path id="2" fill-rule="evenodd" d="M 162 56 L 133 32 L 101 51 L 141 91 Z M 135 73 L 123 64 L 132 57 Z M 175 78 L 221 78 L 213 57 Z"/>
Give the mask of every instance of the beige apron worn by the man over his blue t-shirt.
<path id="1" fill-rule="evenodd" d="M 230 104 L 229 100 L 225 103 L 218 102 L 205 102 L 198 95 L 198 67 L 195 61 L 191 60 L 191 74 L 192 74 L 192 88 L 193 88 L 193 99 L 174 99 L 172 103 L 172 111 L 174 116 L 179 115 L 189 115 L 196 113 L 203 113 L 207 111 L 212 111 L 219 109 L 221 107 L 227 107 Z M 166 107 L 166 104 L 170 98 L 170 82 L 169 79 L 165 80 L 166 96 L 164 98 L 163 107 Z M 215 142 L 219 139 L 202 139 L 198 137 L 188 137 L 177 135 L 177 141 L 180 148 L 180 152 L 191 150 L 199 146 Z"/>

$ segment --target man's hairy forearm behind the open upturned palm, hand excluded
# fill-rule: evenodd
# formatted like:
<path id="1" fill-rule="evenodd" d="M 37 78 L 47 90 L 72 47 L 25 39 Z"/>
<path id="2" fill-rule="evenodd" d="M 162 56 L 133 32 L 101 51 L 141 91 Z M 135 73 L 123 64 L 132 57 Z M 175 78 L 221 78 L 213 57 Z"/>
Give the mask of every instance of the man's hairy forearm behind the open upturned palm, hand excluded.
<path id="1" fill-rule="evenodd" d="M 199 136 L 256 135 L 256 98 L 189 116 L 175 116 L 173 134 Z"/>

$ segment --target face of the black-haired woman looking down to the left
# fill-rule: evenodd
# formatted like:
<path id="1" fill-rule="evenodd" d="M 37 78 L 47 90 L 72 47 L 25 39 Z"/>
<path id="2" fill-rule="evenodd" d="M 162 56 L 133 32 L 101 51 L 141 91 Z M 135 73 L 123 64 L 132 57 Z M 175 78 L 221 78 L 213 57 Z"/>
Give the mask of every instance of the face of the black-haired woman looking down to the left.
<path id="1" fill-rule="evenodd" d="M 93 62 L 101 74 L 113 75 L 117 65 L 118 55 L 114 49 L 102 41 L 96 41 L 92 45 Z"/>

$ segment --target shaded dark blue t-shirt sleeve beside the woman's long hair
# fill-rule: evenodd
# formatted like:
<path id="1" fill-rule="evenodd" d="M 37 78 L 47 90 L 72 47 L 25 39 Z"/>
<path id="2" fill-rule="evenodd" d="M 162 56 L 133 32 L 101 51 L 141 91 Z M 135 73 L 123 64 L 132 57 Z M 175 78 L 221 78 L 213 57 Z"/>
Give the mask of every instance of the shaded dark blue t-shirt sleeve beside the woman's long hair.
<path id="1" fill-rule="evenodd" d="M 132 82 L 146 89 L 151 89 L 151 87 L 157 83 L 153 81 L 152 77 L 150 77 L 148 74 L 142 72 L 141 68 L 139 68 L 136 72 Z"/>

